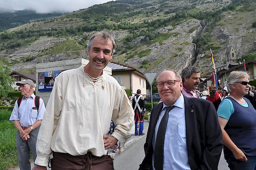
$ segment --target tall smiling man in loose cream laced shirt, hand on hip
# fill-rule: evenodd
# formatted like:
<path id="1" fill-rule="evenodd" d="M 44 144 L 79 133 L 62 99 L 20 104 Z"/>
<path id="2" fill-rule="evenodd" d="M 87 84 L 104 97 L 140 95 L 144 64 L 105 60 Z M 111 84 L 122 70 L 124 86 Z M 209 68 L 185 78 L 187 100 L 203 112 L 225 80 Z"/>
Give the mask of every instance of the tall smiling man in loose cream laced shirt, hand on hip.
<path id="1" fill-rule="evenodd" d="M 59 74 L 37 138 L 33 170 L 113 170 L 107 155 L 134 134 L 134 111 L 119 83 L 103 73 L 115 51 L 113 37 L 96 33 L 88 43 L 89 63 Z M 106 135 L 111 119 L 116 124 Z M 53 159 L 49 161 L 53 152 Z"/>

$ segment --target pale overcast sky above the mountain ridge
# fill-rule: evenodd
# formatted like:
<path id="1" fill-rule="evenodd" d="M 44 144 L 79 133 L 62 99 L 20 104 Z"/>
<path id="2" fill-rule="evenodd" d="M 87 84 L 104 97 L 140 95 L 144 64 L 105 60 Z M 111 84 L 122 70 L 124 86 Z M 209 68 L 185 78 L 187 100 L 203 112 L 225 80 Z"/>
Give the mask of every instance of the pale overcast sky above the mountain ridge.
<path id="1" fill-rule="evenodd" d="M 0 0 L 7 9 L 33 9 L 37 13 L 72 12 L 111 0 Z"/>

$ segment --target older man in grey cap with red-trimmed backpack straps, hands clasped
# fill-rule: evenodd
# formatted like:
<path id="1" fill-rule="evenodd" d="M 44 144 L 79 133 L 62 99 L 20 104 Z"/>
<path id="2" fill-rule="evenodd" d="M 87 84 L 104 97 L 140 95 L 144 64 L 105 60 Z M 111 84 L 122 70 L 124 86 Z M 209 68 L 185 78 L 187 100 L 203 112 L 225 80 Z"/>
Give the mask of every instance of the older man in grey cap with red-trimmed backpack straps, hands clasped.
<path id="1" fill-rule="evenodd" d="M 32 80 L 24 79 L 16 85 L 20 86 L 22 97 L 16 100 L 9 120 L 18 130 L 16 146 L 20 170 L 31 170 L 30 152 L 35 161 L 37 134 L 45 113 L 45 104 L 43 99 L 33 93 L 35 83 Z"/>

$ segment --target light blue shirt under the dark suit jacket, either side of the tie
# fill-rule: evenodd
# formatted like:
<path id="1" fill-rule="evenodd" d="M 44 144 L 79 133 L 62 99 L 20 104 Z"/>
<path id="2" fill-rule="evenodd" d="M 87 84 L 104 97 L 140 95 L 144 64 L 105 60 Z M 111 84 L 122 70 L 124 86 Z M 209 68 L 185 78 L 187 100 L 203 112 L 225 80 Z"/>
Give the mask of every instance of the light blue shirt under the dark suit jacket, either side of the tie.
<path id="1" fill-rule="evenodd" d="M 182 94 L 173 105 L 175 107 L 169 112 L 169 118 L 165 132 L 163 170 L 190 170 L 186 143 L 185 105 L 184 97 Z M 165 107 L 167 107 L 167 105 L 163 103 L 163 109 L 159 115 L 152 140 L 154 152 L 156 135 L 161 119 L 165 113 Z M 152 165 L 153 169 L 155 170 L 154 153 L 152 155 Z"/>

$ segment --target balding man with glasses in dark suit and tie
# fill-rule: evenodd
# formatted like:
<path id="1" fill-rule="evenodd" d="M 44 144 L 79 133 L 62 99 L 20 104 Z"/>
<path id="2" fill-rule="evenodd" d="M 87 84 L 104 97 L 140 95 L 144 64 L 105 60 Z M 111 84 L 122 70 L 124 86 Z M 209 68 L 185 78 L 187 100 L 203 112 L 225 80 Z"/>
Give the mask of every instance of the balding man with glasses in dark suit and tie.
<path id="1" fill-rule="evenodd" d="M 162 72 L 156 86 L 163 102 L 151 111 L 139 170 L 217 170 L 223 144 L 213 104 L 183 96 L 177 72 Z"/>

